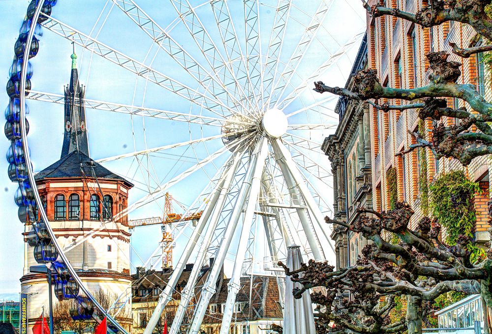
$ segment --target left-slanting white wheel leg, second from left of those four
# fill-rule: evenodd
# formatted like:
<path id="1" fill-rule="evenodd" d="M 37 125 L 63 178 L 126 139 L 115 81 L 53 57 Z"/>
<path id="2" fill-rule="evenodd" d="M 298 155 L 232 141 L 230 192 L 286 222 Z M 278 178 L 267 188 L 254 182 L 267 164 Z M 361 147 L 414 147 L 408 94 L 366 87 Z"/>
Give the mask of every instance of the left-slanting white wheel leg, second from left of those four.
<path id="1" fill-rule="evenodd" d="M 234 164 L 233 166 L 231 166 L 229 173 L 226 175 L 223 182 L 223 186 L 220 188 L 220 190 L 216 190 L 216 194 L 218 195 L 217 200 L 212 208 L 213 213 L 209 219 L 209 225 L 205 232 L 205 236 L 203 237 L 203 240 L 201 241 L 200 244 L 197 244 L 196 242 L 192 243 L 192 246 L 196 245 L 195 247 L 198 247 L 198 254 L 196 255 L 196 260 L 193 269 L 189 274 L 188 282 L 186 283 L 186 286 L 184 287 L 183 293 L 181 295 L 180 304 L 178 305 L 178 309 L 174 316 L 173 324 L 171 325 L 171 329 L 169 330 L 170 334 L 179 333 L 179 328 L 181 326 L 181 323 L 183 322 L 186 307 L 188 307 L 188 304 L 192 298 L 192 294 L 194 293 L 195 283 L 196 280 L 198 279 L 198 275 L 200 274 L 202 263 L 205 261 L 205 256 L 207 255 L 207 249 L 214 236 L 215 227 L 220 218 L 220 213 L 222 212 L 222 208 L 227 198 L 227 194 L 229 193 L 230 187 L 232 185 L 232 181 L 237 171 L 239 161 L 241 160 L 241 157 L 244 155 L 245 152 L 246 151 L 242 151 L 241 153 L 236 153 L 236 156 L 234 158 Z M 186 264 L 186 262 L 184 262 L 184 264 Z M 172 291 L 170 293 L 172 294 Z M 169 299 L 171 298 L 171 294 L 168 297 Z M 150 333 L 152 332 L 149 332 L 149 334 Z"/>

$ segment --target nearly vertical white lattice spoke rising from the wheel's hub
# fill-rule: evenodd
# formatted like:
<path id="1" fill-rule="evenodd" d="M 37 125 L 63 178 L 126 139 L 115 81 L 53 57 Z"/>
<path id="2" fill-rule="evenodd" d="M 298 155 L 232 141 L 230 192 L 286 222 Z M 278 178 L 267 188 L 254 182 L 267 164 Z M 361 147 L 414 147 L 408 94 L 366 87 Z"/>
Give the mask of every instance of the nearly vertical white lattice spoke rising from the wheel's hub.
<path id="1" fill-rule="evenodd" d="M 244 0 L 245 31 L 246 31 L 246 68 L 248 80 L 251 85 L 251 93 L 256 104 L 257 112 L 262 109 L 260 103 L 263 94 L 263 72 L 261 64 L 261 38 L 259 1 Z"/>

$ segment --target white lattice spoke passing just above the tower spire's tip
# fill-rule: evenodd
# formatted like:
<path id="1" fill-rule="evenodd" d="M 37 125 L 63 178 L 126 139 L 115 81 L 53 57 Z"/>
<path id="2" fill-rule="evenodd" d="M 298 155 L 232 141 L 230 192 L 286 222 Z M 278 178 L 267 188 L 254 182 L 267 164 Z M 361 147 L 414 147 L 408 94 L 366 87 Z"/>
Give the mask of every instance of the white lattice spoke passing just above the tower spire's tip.
<path id="1" fill-rule="evenodd" d="M 48 20 L 42 23 L 42 26 L 75 44 L 101 56 L 102 58 L 111 61 L 130 72 L 141 76 L 150 82 L 153 82 L 160 87 L 171 91 L 186 100 L 195 103 L 220 117 L 225 117 L 228 114 L 234 114 L 236 111 L 225 106 L 215 97 L 202 94 L 192 88 L 180 83 L 179 81 L 170 78 L 169 76 L 154 70 L 146 64 L 136 61 L 120 51 L 117 51 L 110 46 L 103 44 L 89 35 L 84 34 L 74 28 L 58 21 L 57 19 L 47 16 Z"/>

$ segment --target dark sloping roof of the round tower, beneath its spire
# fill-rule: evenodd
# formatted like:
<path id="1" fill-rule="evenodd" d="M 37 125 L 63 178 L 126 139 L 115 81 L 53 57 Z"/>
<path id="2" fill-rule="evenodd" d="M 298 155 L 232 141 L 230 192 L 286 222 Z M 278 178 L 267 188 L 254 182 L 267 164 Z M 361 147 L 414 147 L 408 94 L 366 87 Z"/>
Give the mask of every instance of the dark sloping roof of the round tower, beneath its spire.
<path id="1" fill-rule="evenodd" d="M 131 182 L 126 181 L 121 176 L 111 172 L 101 164 L 92 160 L 86 154 L 73 151 L 62 157 L 54 164 L 46 167 L 34 177 L 36 180 L 47 178 L 93 178 L 122 180 L 128 185 L 133 186 Z"/>

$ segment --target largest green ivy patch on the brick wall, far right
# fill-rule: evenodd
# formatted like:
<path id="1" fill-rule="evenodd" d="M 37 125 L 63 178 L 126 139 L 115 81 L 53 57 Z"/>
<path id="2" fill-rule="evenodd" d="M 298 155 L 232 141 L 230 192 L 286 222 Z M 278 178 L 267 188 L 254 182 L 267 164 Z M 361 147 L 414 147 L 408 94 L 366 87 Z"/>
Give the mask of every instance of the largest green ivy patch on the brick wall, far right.
<path id="1" fill-rule="evenodd" d="M 445 243 L 455 245 L 460 235 L 473 238 L 477 221 L 473 196 L 480 191 L 478 182 L 468 180 L 461 170 L 443 173 L 431 183 L 429 209 L 431 216 L 446 228 Z M 471 242 L 467 249 L 472 252 L 472 263 L 485 255 Z"/>

